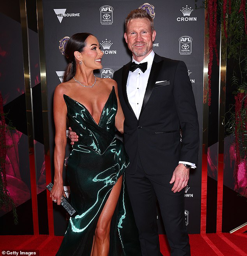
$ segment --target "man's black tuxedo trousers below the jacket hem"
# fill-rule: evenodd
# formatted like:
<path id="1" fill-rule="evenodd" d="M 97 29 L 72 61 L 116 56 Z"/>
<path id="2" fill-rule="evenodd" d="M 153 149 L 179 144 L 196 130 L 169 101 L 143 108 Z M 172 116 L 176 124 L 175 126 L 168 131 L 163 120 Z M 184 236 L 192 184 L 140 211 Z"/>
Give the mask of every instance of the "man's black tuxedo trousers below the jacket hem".
<path id="1" fill-rule="evenodd" d="M 139 231 L 142 256 L 161 256 L 157 227 L 158 200 L 171 256 L 190 256 L 189 236 L 185 226 L 184 190 L 172 192 L 172 174 L 147 175 L 138 159 L 135 174 L 125 173 L 127 190 Z"/>

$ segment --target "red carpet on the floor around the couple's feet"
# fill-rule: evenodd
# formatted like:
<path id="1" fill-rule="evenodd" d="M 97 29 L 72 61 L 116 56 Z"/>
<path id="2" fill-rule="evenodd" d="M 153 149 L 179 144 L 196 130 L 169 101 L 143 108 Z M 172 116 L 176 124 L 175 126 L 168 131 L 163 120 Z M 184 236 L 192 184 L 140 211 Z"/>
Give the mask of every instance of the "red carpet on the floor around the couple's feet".
<path id="1" fill-rule="evenodd" d="M 189 235 L 191 256 L 247 256 L 247 235 L 206 234 Z M 40 256 L 55 256 L 62 236 L 0 236 L 0 256 L 3 250 L 39 250 Z M 160 235 L 161 252 L 168 256 L 166 236 Z M 6 254 L 5 254 L 6 255 Z"/>

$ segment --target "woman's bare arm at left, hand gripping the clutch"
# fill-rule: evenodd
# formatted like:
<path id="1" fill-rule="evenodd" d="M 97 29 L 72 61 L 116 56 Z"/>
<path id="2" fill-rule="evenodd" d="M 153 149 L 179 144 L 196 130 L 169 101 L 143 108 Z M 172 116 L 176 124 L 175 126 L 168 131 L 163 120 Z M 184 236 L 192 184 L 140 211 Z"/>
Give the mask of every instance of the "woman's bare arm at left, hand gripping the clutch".
<path id="1" fill-rule="evenodd" d="M 66 116 L 67 107 L 64 102 L 64 86 L 59 84 L 56 87 L 53 97 L 53 115 L 55 123 L 55 150 L 54 150 L 54 185 L 51 190 L 51 199 L 57 200 L 60 204 L 61 197 L 64 195 L 63 183 L 63 166 L 65 157 L 65 147 L 67 144 L 66 138 Z M 55 201 L 56 202 L 56 201 Z"/>

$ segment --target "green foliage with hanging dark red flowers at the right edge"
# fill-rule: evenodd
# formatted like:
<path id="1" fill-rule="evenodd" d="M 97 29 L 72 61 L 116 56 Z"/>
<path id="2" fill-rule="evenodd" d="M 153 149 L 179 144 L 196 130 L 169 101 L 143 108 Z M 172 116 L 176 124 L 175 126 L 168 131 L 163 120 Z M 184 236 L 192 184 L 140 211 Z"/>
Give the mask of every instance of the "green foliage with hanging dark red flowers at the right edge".
<path id="1" fill-rule="evenodd" d="M 219 7 L 222 14 L 222 0 L 219 1 Z M 247 155 L 247 130 L 246 130 L 246 105 L 244 104 L 247 97 L 247 34 L 245 33 L 245 21 L 243 11 L 239 12 L 241 0 L 231 1 L 231 14 L 226 15 L 227 24 L 227 57 L 235 59 L 235 67 L 231 79 L 231 86 L 236 88 L 234 95 L 244 93 L 241 106 L 231 107 L 229 110 L 230 118 L 226 125 L 226 132 L 231 133 L 235 137 L 235 145 L 238 147 L 240 161 Z M 245 5 L 245 13 L 247 11 Z M 224 17 L 221 15 L 221 22 Z M 227 71 L 226 71 L 227 72 Z M 227 85 L 228 86 L 228 85 Z M 237 108 L 239 113 L 236 115 Z"/>

